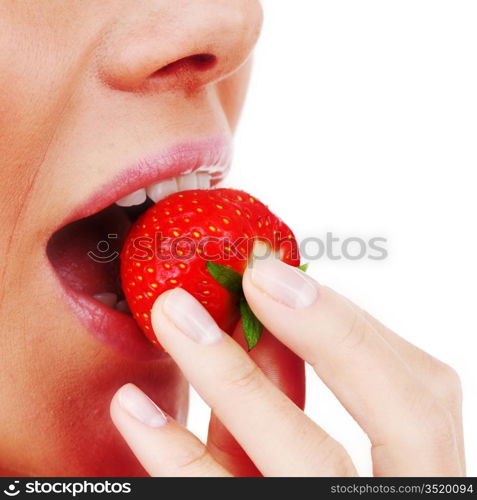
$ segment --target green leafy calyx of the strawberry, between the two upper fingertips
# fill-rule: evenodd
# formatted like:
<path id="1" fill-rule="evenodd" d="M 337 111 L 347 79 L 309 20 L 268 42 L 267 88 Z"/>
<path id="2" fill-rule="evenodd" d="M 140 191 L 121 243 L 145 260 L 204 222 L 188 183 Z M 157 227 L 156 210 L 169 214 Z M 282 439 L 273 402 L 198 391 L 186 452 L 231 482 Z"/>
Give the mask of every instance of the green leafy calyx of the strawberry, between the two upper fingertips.
<path id="1" fill-rule="evenodd" d="M 216 264 L 215 262 L 208 261 L 206 266 L 209 274 L 220 286 L 238 297 L 240 315 L 242 317 L 242 329 L 245 335 L 248 350 L 251 351 L 260 340 L 263 332 L 263 325 L 255 316 L 245 299 L 242 288 L 242 275 L 233 270 L 231 267 Z M 306 272 L 308 264 L 299 266 L 299 269 Z"/>

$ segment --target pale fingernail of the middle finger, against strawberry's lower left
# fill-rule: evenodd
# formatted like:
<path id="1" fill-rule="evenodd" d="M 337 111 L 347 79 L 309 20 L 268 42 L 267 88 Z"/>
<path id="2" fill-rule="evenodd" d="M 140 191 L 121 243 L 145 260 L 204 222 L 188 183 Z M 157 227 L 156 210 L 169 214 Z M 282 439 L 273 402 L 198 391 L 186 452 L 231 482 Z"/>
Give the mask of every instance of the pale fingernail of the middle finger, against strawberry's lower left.
<path id="1" fill-rule="evenodd" d="M 187 337 L 198 344 L 214 344 L 222 331 L 212 316 L 182 288 L 174 288 L 163 303 L 165 315 Z"/>

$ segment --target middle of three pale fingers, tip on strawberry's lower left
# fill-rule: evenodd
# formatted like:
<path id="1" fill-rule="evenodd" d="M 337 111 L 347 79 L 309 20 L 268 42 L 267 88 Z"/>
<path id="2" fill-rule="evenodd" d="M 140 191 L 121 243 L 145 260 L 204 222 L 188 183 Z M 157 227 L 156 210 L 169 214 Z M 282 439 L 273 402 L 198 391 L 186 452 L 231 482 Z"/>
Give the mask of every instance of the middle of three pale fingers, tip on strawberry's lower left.
<path id="1" fill-rule="evenodd" d="M 312 422 L 180 288 L 163 293 L 152 325 L 197 392 L 266 476 L 356 474 L 344 449 Z"/>

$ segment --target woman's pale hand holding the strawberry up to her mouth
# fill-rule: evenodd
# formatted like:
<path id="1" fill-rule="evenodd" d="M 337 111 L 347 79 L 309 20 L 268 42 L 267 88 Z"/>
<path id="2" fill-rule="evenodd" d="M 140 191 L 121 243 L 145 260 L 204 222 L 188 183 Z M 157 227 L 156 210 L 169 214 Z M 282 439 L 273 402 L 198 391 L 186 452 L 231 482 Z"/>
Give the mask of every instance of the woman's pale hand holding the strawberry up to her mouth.
<path id="1" fill-rule="evenodd" d="M 451 368 L 274 258 L 255 260 L 243 286 L 273 333 L 266 339 L 313 366 L 369 436 L 376 476 L 465 474 L 461 390 Z M 181 289 L 161 295 L 152 323 L 261 474 L 357 474 L 343 446 L 267 378 L 252 359 L 255 349 L 249 356 L 192 296 Z M 240 453 L 203 445 L 132 384 L 114 396 L 111 416 L 153 476 L 237 475 L 234 458 L 243 460 Z"/>

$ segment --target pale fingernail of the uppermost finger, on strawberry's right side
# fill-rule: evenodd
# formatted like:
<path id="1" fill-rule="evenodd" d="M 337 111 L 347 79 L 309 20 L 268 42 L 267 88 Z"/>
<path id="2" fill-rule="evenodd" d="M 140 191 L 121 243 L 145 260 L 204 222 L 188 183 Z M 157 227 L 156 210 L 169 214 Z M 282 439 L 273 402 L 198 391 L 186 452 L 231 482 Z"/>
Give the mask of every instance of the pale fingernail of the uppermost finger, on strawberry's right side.
<path id="1" fill-rule="evenodd" d="M 250 268 L 254 285 L 287 307 L 309 307 L 318 298 L 317 286 L 311 278 L 273 256 L 254 259 Z"/>

